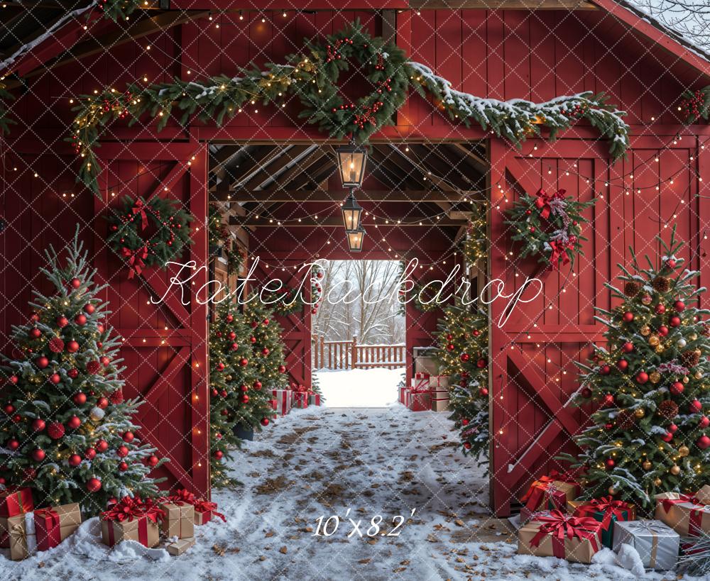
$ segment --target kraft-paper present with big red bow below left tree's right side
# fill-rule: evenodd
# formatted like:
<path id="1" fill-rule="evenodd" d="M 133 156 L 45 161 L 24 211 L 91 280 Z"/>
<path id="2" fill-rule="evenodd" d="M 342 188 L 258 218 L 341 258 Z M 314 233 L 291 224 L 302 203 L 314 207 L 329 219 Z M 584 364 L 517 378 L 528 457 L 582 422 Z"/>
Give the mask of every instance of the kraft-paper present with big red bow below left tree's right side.
<path id="1" fill-rule="evenodd" d="M 150 499 L 125 497 L 102 512 L 102 541 L 109 547 L 128 540 L 155 547 L 160 541 L 158 522 L 164 518 L 165 511 Z"/>

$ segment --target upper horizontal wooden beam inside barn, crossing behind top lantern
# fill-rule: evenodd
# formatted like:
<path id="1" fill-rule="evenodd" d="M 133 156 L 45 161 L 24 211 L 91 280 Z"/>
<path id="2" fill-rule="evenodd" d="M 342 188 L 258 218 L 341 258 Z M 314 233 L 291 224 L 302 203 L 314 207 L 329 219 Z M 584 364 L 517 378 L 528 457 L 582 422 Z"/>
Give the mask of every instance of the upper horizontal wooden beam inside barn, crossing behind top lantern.
<path id="1" fill-rule="evenodd" d="M 317 202 L 322 204 L 332 204 L 334 201 L 343 201 L 348 197 L 349 192 L 344 190 L 307 190 L 307 189 L 279 189 L 276 192 L 264 192 L 263 190 L 239 189 L 235 192 L 215 192 L 212 199 L 230 202 Z M 466 190 L 464 192 L 438 192 L 435 190 L 369 190 L 363 189 L 356 192 L 359 201 L 396 201 L 410 202 L 437 202 L 447 201 L 457 204 L 465 197 L 480 197 L 478 190 Z"/>

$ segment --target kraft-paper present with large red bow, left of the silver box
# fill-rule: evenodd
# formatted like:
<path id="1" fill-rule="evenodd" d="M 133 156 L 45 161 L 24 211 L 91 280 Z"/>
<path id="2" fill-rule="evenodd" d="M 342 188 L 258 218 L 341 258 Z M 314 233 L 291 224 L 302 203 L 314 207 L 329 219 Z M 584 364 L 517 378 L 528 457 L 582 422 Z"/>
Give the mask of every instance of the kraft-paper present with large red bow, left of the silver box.
<path id="1" fill-rule="evenodd" d="M 601 548 L 601 523 L 553 510 L 518 529 L 518 553 L 591 563 Z"/>

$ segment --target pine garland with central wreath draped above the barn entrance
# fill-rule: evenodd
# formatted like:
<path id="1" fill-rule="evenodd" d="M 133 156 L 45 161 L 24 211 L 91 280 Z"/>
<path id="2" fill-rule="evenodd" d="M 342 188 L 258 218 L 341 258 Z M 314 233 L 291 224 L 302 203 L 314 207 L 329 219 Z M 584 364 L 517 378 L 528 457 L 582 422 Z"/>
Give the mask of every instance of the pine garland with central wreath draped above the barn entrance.
<path id="1" fill-rule="evenodd" d="M 355 101 L 344 99 L 338 87 L 340 74 L 359 66 L 373 89 Z M 324 42 L 305 41 L 305 51 L 286 57 L 285 64 L 267 64 L 263 70 L 241 70 L 239 77 L 217 75 L 203 82 L 175 79 L 172 83 L 143 87 L 130 84 L 124 92 L 107 89 L 82 95 L 75 107 L 72 135 L 67 138 L 81 157 L 77 179 L 99 193 L 99 165 L 94 148 L 103 129 L 116 119 L 129 118 L 129 125 L 141 116 L 158 118 L 158 131 L 177 109 L 180 125 L 192 115 L 221 126 L 225 119 L 258 102 L 286 106 L 290 96 L 300 101 L 298 114 L 331 138 L 346 135 L 358 143 L 391 125 L 394 114 L 413 87 L 422 96 L 431 95 L 453 121 L 479 123 L 486 130 L 520 145 L 526 138 L 540 136 L 542 127 L 554 139 L 580 119 L 586 119 L 610 142 L 613 159 L 628 148 L 629 128 L 624 111 L 607 104 L 603 94 L 589 92 L 560 96 L 542 104 L 513 99 L 496 101 L 455 91 L 451 84 L 428 67 L 407 59 L 401 48 L 383 38 L 369 35 L 359 21 L 327 35 Z"/>

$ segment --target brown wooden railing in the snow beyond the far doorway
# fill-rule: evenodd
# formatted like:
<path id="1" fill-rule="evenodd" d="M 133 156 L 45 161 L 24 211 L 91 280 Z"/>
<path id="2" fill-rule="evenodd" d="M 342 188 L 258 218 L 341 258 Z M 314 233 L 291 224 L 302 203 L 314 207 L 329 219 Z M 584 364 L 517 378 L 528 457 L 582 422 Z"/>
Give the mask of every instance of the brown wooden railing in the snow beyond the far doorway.
<path id="1" fill-rule="evenodd" d="M 313 369 L 395 369 L 405 366 L 405 345 L 358 345 L 352 341 L 326 341 L 314 336 Z"/>

